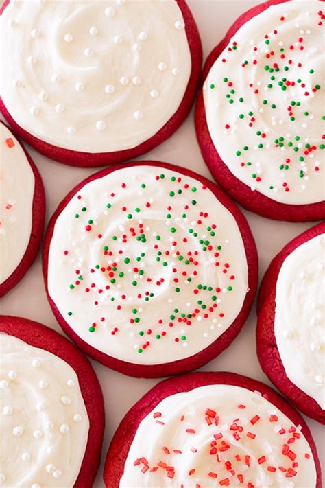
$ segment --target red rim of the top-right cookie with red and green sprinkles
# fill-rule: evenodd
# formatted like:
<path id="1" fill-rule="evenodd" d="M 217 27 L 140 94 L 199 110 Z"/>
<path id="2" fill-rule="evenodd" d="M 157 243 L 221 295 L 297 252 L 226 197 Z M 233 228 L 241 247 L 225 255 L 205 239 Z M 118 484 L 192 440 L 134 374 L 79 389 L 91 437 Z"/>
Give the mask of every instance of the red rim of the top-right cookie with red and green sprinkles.
<path id="1" fill-rule="evenodd" d="M 260 5 L 256 5 L 251 8 L 237 19 L 234 24 L 228 30 L 223 40 L 213 49 L 206 60 L 202 72 L 202 86 L 206 79 L 210 68 L 215 63 L 215 60 L 219 58 L 219 55 L 228 45 L 230 38 L 236 34 L 237 30 L 245 24 L 252 17 L 260 14 L 270 5 L 276 5 L 278 3 L 285 3 L 291 0 L 269 0 Z M 321 0 L 324 1 L 324 0 Z M 289 222 L 309 222 L 313 220 L 322 220 L 325 218 L 325 202 L 316 202 L 305 205 L 289 205 L 286 203 L 276 202 L 261 194 L 259 191 L 252 191 L 248 185 L 243 183 L 239 178 L 234 176 L 228 169 L 228 166 L 222 161 L 219 156 L 213 141 L 210 137 L 208 125 L 206 122 L 206 114 L 204 109 L 203 89 L 200 88 L 199 95 L 197 96 L 197 103 L 195 106 L 195 130 L 197 135 L 197 141 L 200 146 L 200 150 L 203 159 L 208 166 L 213 178 L 226 191 L 228 196 L 237 200 L 245 209 L 258 213 L 262 217 L 274 219 L 274 220 L 287 220 Z"/>

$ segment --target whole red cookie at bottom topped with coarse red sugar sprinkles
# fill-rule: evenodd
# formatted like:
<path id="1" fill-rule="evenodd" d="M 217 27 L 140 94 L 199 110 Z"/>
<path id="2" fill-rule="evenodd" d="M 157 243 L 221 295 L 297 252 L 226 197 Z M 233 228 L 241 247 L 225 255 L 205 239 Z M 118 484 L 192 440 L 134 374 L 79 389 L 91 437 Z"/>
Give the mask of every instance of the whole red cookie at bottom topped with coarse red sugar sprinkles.
<path id="1" fill-rule="evenodd" d="M 322 485 L 301 415 L 265 384 L 234 373 L 165 380 L 129 410 L 104 481 L 123 488 L 130 480 L 139 488 Z"/>

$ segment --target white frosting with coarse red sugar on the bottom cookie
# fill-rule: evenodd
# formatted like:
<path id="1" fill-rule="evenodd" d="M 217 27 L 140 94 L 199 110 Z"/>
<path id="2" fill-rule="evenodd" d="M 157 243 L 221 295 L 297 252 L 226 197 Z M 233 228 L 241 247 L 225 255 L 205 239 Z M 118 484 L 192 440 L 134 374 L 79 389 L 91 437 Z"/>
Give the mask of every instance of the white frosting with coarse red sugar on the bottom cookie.
<path id="1" fill-rule="evenodd" d="M 207 408 L 212 410 L 208 415 Z M 252 423 L 256 415 L 260 418 Z M 243 476 L 243 486 L 313 488 L 315 463 L 299 430 L 267 399 L 246 388 L 209 385 L 170 395 L 141 421 L 119 486 L 236 487 Z M 289 439 L 293 441 L 287 444 Z M 294 459 L 289 450 L 282 454 L 283 445 L 296 454 Z M 170 468 L 173 477 L 167 475 Z M 288 469 L 296 474 L 287 477 Z"/>

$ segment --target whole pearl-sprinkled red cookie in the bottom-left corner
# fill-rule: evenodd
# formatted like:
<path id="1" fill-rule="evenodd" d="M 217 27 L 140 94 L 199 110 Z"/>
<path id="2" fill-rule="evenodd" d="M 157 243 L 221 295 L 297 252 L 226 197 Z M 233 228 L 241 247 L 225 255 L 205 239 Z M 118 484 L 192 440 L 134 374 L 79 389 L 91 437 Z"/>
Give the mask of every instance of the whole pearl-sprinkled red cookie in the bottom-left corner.
<path id="1" fill-rule="evenodd" d="M 0 316 L 0 341 L 1 486 L 92 486 L 105 417 L 91 364 L 60 334 L 25 318 Z"/>

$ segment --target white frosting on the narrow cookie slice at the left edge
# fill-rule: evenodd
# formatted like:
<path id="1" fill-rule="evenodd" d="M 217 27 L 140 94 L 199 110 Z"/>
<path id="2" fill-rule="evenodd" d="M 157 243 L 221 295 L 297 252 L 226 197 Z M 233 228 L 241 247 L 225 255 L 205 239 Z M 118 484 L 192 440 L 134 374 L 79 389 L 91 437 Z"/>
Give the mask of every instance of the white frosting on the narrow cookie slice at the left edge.
<path id="1" fill-rule="evenodd" d="M 0 122 L 0 283 L 19 266 L 32 231 L 35 178 L 25 152 Z"/>

